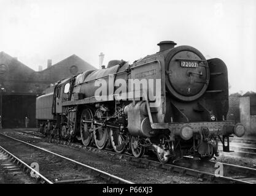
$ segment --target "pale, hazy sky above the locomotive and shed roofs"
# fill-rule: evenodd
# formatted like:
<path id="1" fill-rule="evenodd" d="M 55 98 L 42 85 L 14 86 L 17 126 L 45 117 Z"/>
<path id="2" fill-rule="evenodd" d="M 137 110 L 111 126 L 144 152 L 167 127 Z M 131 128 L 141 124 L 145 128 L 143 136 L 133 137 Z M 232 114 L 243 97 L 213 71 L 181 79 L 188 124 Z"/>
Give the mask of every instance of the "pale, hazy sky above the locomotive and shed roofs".
<path id="1" fill-rule="evenodd" d="M 230 93 L 256 92 L 255 0 L 0 0 L 0 51 L 34 70 L 73 54 L 132 63 L 162 40 L 222 59 Z"/>

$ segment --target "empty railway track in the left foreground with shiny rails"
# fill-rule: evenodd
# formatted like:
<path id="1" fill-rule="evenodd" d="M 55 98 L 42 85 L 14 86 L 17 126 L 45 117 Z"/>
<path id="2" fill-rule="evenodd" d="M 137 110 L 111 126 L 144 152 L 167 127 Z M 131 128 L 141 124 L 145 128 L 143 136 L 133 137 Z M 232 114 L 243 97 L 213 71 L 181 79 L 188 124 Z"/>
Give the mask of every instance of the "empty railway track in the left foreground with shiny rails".
<path id="1" fill-rule="evenodd" d="M 126 179 L 111 175 L 76 160 L 53 153 L 39 146 L 31 145 L 17 138 L 0 134 L 0 151 L 19 165 L 25 173 L 41 183 L 115 183 L 133 184 Z M 22 151 L 21 151 L 22 149 Z M 17 155 L 15 155 L 17 154 Z M 18 157 L 19 156 L 19 157 Z M 21 158 L 22 157 L 22 158 Z M 22 160 L 21 160 L 22 159 Z M 39 170 L 31 165 L 39 165 Z M 36 164 L 35 164 L 36 163 Z M 60 178 L 61 173 L 61 178 Z"/>

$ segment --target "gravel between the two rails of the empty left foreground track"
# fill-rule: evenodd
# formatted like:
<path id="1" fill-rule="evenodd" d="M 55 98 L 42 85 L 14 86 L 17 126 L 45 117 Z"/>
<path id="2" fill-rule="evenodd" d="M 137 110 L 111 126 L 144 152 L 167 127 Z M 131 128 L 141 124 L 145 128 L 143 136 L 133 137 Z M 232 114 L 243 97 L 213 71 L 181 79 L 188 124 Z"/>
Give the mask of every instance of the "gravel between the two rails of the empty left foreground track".
<path id="1" fill-rule="evenodd" d="M 39 164 L 39 173 L 52 182 L 87 179 L 90 183 L 106 183 L 103 179 L 95 178 L 94 175 L 91 175 L 88 168 L 64 160 L 61 157 L 45 153 L 39 149 L 32 148 L 31 146 L 2 136 L 0 136 L 0 143 L 2 147 L 26 162 L 26 164 Z M 85 183 L 87 183 L 87 181 L 85 181 Z"/>

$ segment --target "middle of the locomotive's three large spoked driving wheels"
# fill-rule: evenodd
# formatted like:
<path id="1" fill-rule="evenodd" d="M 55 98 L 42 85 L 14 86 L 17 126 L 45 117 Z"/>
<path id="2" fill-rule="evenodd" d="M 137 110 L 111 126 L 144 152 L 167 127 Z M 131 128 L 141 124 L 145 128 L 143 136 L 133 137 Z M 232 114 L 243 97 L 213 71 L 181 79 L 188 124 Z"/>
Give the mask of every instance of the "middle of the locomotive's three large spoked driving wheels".
<path id="1" fill-rule="evenodd" d="M 98 149 L 103 149 L 106 147 L 107 141 L 108 141 L 108 136 L 109 136 L 109 134 L 107 134 L 106 127 L 101 127 L 99 129 L 96 129 L 95 131 L 93 131 L 95 145 L 97 146 Z"/>

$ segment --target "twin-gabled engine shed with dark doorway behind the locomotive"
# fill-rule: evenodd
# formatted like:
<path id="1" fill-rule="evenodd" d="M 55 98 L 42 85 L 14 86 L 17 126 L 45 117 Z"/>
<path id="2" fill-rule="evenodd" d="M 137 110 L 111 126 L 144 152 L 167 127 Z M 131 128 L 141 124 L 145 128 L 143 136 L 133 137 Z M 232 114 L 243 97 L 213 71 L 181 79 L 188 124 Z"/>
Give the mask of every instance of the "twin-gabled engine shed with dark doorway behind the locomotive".
<path id="1" fill-rule="evenodd" d="M 34 127 L 36 97 L 50 83 L 88 69 L 95 67 L 72 55 L 54 65 L 48 60 L 47 69 L 36 72 L 16 58 L 0 52 L 0 126 L 24 127 L 28 116 L 29 126 Z"/>

